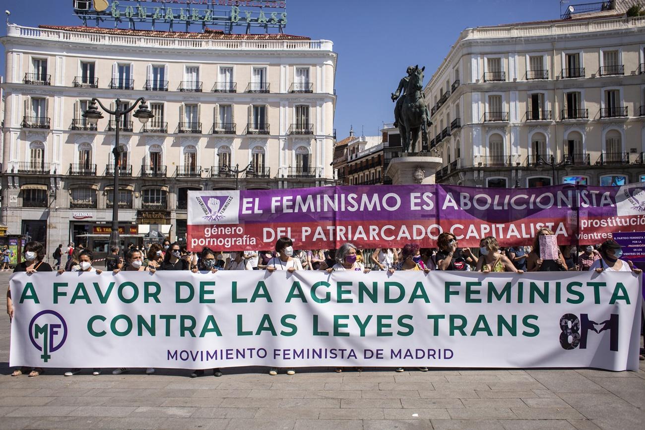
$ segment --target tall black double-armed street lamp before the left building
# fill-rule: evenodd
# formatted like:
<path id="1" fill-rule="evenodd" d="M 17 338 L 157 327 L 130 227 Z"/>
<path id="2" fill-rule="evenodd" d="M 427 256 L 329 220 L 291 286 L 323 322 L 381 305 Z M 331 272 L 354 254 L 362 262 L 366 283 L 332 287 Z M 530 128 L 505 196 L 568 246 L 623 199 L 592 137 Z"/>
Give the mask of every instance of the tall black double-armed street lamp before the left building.
<path id="1" fill-rule="evenodd" d="M 103 118 L 101 112 L 97 109 L 96 104 L 98 103 L 101 108 L 110 115 L 114 115 L 115 120 L 115 141 L 114 149 L 112 153 L 114 154 L 114 190 L 112 190 L 112 231 L 110 232 L 110 246 L 121 246 L 121 239 L 119 238 L 119 159 L 120 155 L 123 152 L 126 152 L 127 149 L 124 145 L 119 144 L 119 128 L 121 128 L 121 117 L 132 112 L 137 106 L 137 103 L 141 102 L 139 109 L 137 109 L 133 116 L 139 119 L 141 124 L 145 124 L 149 119 L 154 118 L 154 113 L 150 112 L 146 100 L 143 97 L 139 97 L 137 101 L 132 103 L 132 106 L 121 110 L 121 100 L 116 99 L 115 110 L 110 110 L 103 106 L 103 103 L 99 99 L 93 98 L 88 106 L 87 110 L 83 112 L 83 117 L 86 118 L 90 124 L 96 125 L 99 122 L 99 119 Z"/>

